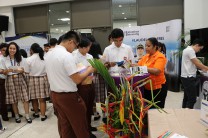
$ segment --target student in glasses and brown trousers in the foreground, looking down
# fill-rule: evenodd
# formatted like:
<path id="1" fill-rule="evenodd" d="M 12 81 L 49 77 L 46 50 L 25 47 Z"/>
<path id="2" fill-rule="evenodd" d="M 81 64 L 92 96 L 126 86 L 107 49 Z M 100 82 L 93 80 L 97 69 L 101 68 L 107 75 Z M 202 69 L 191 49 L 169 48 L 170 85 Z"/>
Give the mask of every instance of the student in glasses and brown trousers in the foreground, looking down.
<path id="1" fill-rule="evenodd" d="M 76 32 L 67 32 L 60 41 L 45 58 L 51 99 L 58 117 L 59 134 L 63 138 L 89 138 L 87 110 L 77 93 L 77 84 L 93 73 L 94 69 L 88 67 L 81 74 L 77 71 L 71 54 L 79 42 Z"/>

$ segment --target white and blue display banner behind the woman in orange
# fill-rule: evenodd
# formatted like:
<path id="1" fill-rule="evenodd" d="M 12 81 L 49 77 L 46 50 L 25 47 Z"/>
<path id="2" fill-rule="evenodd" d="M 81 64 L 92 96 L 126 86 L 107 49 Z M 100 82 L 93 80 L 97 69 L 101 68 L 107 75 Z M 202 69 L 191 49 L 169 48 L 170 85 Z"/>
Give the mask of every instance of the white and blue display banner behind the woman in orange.
<path id="1" fill-rule="evenodd" d="M 152 25 L 135 26 L 135 27 L 124 27 L 121 28 L 124 31 L 124 41 L 123 43 L 132 46 L 133 52 L 136 55 L 136 47 L 139 44 L 145 46 L 145 41 L 150 37 L 156 37 L 161 43 L 166 46 L 166 74 L 167 78 L 174 80 L 174 82 L 179 83 L 180 67 L 179 67 L 179 57 L 176 54 L 180 46 L 182 30 L 182 20 L 176 19 L 163 23 L 157 23 Z M 172 79 L 174 78 L 174 79 Z M 175 87 L 175 85 L 173 86 Z M 169 90 L 172 88 L 169 87 Z M 179 91 L 179 86 L 173 88 L 172 91 Z"/>

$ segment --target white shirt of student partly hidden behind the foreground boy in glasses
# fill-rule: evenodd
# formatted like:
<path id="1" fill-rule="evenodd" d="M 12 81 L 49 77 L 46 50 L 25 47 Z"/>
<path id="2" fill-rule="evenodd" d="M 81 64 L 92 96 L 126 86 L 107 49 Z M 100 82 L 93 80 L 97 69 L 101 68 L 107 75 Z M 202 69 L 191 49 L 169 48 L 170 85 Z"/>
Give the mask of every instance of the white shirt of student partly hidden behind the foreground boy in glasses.
<path id="1" fill-rule="evenodd" d="M 75 63 L 82 63 L 84 66 L 91 66 L 90 63 L 87 61 L 87 59 L 93 59 L 92 55 L 90 54 L 86 54 L 85 56 L 82 55 L 79 50 L 78 51 L 74 51 L 73 53 L 74 59 L 75 59 Z"/>

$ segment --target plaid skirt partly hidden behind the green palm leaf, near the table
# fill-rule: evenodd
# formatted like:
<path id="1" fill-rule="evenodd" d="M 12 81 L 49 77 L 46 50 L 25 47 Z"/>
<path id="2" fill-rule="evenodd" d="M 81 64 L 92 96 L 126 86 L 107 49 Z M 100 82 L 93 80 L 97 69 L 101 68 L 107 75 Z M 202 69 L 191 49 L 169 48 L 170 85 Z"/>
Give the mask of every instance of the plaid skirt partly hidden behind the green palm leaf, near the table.
<path id="1" fill-rule="evenodd" d="M 94 75 L 94 87 L 95 87 L 95 102 L 105 103 L 106 99 L 106 84 L 103 77 L 96 73 Z"/>

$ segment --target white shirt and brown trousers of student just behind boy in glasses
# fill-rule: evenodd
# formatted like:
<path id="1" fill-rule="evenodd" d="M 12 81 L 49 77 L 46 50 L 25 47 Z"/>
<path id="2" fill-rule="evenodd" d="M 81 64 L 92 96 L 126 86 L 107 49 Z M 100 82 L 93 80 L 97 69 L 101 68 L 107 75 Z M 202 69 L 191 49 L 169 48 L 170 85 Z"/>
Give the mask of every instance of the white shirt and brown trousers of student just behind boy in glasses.
<path id="1" fill-rule="evenodd" d="M 88 59 L 93 59 L 92 55 L 86 54 L 82 55 L 79 50 L 77 52 L 73 52 L 75 63 L 76 64 L 83 64 L 84 66 L 90 66 L 90 63 L 87 61 Z M 88 128 L 90 131 L 91 128 L 91 115 L 93 115 L 93 104 L 95 99 L 95 89 L 94 84 L 91 82 L 85 84 L 81 83 L 78 86 L 78 93 L 82 97 L 87 107 L 87 121 L 88 121 Z"/>

